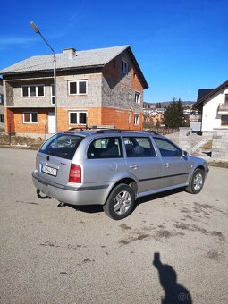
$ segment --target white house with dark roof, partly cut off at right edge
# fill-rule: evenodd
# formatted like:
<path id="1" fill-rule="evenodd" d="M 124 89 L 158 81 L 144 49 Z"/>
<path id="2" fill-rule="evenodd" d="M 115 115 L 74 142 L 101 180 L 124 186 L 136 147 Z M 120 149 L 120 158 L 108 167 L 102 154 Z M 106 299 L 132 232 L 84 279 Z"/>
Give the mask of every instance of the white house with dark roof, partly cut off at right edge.
<path id="1" fill-rule="evenodd" d="M 201 131 L 228 129 L 228 80 L 216 89 L 199 89 L 198 100 L 192 106 L 202 114 Z"/>

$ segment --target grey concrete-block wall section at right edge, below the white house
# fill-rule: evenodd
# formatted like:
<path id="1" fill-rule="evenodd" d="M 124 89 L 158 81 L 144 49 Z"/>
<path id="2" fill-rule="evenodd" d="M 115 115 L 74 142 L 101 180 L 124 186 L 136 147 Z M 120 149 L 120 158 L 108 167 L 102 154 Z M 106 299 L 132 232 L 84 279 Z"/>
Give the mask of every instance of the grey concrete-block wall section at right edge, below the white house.
<path id="1" fill-rule="evenodd" d="M 212 142 L 212 158 L 228 160 L 228 129 L 214 128 Z"/>

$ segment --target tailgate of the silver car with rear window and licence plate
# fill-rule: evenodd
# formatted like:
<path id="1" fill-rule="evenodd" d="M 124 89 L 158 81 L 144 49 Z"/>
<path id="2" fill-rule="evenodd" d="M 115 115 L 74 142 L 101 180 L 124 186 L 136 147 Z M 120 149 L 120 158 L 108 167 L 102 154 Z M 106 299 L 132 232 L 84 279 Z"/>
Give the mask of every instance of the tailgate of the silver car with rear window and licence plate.
<path id="1" fill-rule="evenodd" d="M 73 134 L 56 134 L 39 149 L 37 170 L 47 181 L 66 185 L 69 181 L 72 157 L 83 137 Z"/>

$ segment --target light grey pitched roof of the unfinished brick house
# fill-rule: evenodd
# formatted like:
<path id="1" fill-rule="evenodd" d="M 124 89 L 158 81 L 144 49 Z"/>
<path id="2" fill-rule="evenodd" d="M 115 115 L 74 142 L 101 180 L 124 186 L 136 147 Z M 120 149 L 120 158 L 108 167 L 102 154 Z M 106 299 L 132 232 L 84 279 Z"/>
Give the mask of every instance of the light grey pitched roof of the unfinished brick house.
<path id="1" fill-rule="evenodd" d="M 72 58 L 66 52 L 56 54 L 56 70 L 81 69 L 89 67 L 103 67 L 117 55 L 127 50 L 144 88 L 148 88 L 147 80 L 139 68 L 139 64 L 130 46 L 114 46 L 85 51 L 76 51 Z M 43 72 L 53 70 L 53 55 L 32 56 L 19 63 L 15 63 L 0 71 L 0 74 L 15 74 L 28 72 Z"/>

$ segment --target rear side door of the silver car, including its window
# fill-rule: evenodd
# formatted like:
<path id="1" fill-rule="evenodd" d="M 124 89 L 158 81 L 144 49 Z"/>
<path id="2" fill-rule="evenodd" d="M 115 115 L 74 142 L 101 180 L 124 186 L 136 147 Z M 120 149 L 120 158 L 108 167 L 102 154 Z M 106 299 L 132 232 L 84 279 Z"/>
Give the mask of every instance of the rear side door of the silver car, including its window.
<path id="1" fill-rule="evenodd" d="M 123 137 L 126 150 L 127 170 L 139 181 L 139 192 L 159 189 L 161 186 L 162 162 L 150 137 Z"/>

